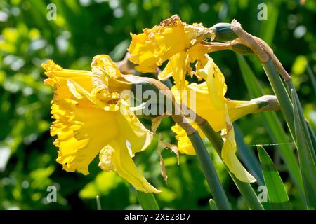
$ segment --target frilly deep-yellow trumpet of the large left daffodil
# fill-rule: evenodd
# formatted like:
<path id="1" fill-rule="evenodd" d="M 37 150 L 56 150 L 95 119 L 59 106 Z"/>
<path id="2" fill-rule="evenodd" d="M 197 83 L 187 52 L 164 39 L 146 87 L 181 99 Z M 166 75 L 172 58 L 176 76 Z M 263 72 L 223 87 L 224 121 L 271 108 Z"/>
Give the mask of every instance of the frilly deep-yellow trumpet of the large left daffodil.
<path id="1" fill-rule="evenodd" d="M 88 165 L 99 151 L 119 134 L 118 111 L 81 107 L 77 102 L 61 99 L 52 111 L 54 132 L 58 139 L 58 159 L 67 172 L 88 174 Z"/>

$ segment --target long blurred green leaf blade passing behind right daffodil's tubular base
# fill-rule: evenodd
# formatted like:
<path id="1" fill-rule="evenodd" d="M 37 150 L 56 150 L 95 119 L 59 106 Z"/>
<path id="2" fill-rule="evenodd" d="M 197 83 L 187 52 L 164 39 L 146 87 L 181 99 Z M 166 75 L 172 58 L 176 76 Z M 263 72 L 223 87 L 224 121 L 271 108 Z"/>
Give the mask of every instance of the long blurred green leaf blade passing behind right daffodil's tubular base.
<path id="1" fill-rule="evenodd" d="M 254 75 L 254 72 L 247 64 L 246 59 L 240 55 L 237 55 L 237 59 L 250 97 L 261 97 L 264 94 L 263 89 Z M 259 116 L 261 116 L 263 125 L 265 126 L 266 130 L 268 130 L 270 138 L 274 143 L 289 142 L 289 137 L 284 132 L 282 124 L 279 122 L 277 114 L 274 111 L 261 112 L 259 113 Z M 293 148 L 290 144 L 280 144 L 277 145 L 276 148 L 279 150 L 282 160 L 284 160 L 284 163 L 289 170 L 291 179 L 294 181 L 294 184 L 298 188 L 301 195 L 301 199 L 304 201 L 305 197 L 303 181 L 301 179 L 298 161 L 296 160 Z"/>

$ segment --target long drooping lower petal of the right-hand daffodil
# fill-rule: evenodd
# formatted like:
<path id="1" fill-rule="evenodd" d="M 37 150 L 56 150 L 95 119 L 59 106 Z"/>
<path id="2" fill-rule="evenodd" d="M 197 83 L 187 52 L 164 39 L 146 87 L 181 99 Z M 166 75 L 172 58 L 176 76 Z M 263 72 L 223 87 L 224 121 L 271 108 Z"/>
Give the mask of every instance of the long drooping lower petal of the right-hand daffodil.
<path id="1" fill-rule="evenodd" d="M 228 116 L 228 107 L 225 105 L 225 122 L 226 122 L 226 130 L 223 136 L 224 144 L 222 148 L 222 159 L 225 165 L 230 169 L 230 172 L 235 174 L 237 179 L 246 183 L 256 182 L 254 176 L 252 176 L 242 165 L 242 163 L 238 160 L 236 156 L 236 142 L 235 142 L 235 134 L 232 123 L 230 122 L 230 118 Z"/>

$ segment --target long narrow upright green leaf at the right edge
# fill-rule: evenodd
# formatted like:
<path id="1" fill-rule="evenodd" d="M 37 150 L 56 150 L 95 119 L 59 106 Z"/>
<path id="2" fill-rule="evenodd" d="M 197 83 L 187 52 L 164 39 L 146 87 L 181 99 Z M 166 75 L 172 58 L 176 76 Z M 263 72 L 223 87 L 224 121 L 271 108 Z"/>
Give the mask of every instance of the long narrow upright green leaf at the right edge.
<path id="1" fill-rule="evenodd" d="M 298 97 L 291 89 L 291 97 L 293 101 L 294 128 L 296 137 L 296 146 L 298 150 L 298 160 L 300 162 L 301 174 L 303 176 L 303 184 L 305 190 L 305 198 L 308 209 L 316 209 L 316 169 L 312 153 L 313 148 L 308 144 L 308 137 L 303 130 L 305 120 L 298 109 Z"/>

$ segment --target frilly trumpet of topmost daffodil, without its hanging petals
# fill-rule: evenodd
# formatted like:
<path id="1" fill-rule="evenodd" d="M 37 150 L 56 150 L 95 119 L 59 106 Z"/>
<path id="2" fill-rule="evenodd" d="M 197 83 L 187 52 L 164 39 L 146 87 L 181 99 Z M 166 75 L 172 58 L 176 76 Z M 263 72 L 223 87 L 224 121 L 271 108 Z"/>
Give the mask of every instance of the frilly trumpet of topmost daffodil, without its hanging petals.
<path id="1" fill-rule="evenodd" d="M 132 34 L 129 60 L 138 64 L 140 72 L 154 72 L 157 66 L 178 52 L 185 51 L 204 38 L 212 37 L 213 32 L 202 25 L 187 25 L 178 15 L 164 20 L 161 25 L 144 29 L 143 34 Z"/>

